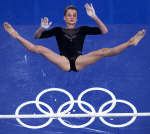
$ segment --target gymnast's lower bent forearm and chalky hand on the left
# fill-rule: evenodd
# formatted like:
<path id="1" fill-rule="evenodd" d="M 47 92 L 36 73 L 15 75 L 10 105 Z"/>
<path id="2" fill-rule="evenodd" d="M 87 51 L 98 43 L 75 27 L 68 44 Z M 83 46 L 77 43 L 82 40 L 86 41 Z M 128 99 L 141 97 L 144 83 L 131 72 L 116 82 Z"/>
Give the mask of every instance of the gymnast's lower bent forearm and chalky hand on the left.
<path id="1" fill-rule="evenodd" d="M 38 39 L 40 38 L 41 34 L 45 29 L 48 29 L 51 26 L 52 22 L 48 22 L 48 18 L 44 17 L 44 19 L 41 19 L 41 26 L 40 28 L 34 33 L 34 38 Z"/>

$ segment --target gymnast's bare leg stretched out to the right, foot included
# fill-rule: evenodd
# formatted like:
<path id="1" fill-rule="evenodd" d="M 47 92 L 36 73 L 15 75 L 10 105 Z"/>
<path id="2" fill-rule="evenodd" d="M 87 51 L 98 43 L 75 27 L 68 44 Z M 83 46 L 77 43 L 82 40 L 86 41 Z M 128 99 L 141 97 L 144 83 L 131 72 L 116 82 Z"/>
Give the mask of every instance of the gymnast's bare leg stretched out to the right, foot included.
<path id="1" fill-rule="evenodd" d="M 79 56 L 76 60 L 76 68 L 77 70 L 81 70 L 88 65 L 94 64 L 95 62 L 99 61 L 100 59 L 108 56 L 114 56 L 120 54 L 126 48 L 130 46 L 136 46 L 139 41 L 144 37 L 145 30 L 139 31 L 136 35 L 134 35 L 130 40 L 127 42 L 116 46 L 114 48 L 103 48 L 86 55 Z"/>

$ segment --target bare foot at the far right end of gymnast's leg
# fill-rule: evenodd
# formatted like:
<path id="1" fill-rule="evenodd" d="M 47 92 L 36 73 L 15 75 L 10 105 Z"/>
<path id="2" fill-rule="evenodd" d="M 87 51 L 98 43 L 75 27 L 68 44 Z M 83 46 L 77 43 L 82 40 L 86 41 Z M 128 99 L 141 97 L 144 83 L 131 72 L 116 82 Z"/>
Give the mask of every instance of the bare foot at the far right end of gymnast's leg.
<path id="1" fill-rule="evenodd" d="M 129 40 L 130 45 L 136 46 L 136 45 L 139 43 L 139 41 L 143 39 L 145 33 L 146 33 L 146 30 L 145 30 L 145 29 L 143 29 L 143 30 L 137 32 L 137 34 L 134 35 L 134 36 Z"/>

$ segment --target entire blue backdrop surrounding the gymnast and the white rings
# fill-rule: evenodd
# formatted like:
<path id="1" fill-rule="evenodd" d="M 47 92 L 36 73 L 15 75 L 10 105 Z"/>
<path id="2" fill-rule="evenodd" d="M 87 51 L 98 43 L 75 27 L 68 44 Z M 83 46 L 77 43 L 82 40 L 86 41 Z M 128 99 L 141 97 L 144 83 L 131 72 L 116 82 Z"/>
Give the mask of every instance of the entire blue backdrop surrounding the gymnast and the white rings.
<path id="1" fill-rule="evenodd" d="M 40 19 L 47 16 L 53 21 L 52 27 L 56 25 L 65 27 L 63 21 L 64 8 L 73 4 L 79 11 L 77 26 L 95 26 L 95 22 L 86 15 L 84 4 L 87 2 L 93 3 L 97 15 L 108 27 L 109 33 L 101 36 L 87 36 L 84 54 L 100 48 L 119 45 L 143 28 L 147 30 L 146 36 L 137 47 L 130 47 L 117 56 L 102 59 L 78 73 L 67 73 L 49 63 L 44 57 L 28 52 L 18 41 L 11 38 L 2 27 L 3 22 L 8 21 L 23 37 L 34 44 L 40 44 L 58 52 L 55 38 L 33 39 L 33 34 L 40 25 Z M 150 112 L 149 5 L 149 0 L 1 1 L 0 114 L 14 114 L 20 104 L 35 100 L 39 92 L 53 87 L 67 90 L 75 99 L 87 88 L 103 87 L 113 92 L 117 99 L 127 100 L 134 104 L 138 112 Z M 61 93 L 49 95 L 42 99 L 48 104 L 52 103 L 52 108 L 56 112 L 56 105 L 64 103 L 66 97 L 62 96 Z M 85 100 L 98 110 L 99 106 L 110 98 L 103 92 L 91 92 L 85 97 Z M 128 106 L 118 103 L 112 112 L 126 113 L 132 111 Z M 22 113 L 39 112 L 31 105 L 27 106 L 27 109 L 24 109 Z M 121 124 L 128 119 L 108 118 L 108 120 L 114 124 Z M 69 121 L 72 124 L 82 124 L 82 119 Z M 26 122 L 31 125 L 38 125 L 44 121 L 43 119 L 28 119 Z M 149 132 L 150 117 L 138 117 L 132 125 L 124 128 L 111 128 L 96 119 L 86 128 L 71 129 L 54 120 L 52 124 L 39 130 L 23 128 L 15 119 L 0 119 L 0 134 L 148 134 Z"/>

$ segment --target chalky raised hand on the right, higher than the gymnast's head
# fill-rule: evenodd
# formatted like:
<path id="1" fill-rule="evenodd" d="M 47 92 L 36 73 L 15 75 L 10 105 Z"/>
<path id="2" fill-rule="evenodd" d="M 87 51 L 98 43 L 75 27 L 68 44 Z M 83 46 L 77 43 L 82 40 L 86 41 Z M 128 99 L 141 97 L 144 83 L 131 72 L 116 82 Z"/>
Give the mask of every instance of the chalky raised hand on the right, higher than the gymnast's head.
<path id="1" fill-rule="evenodd" d="M 88 14 L 88 16 L 90 16 L 91 18 L 94 18 L 96 16 L 95 14 L 95 9 L 93 8 L 92 4 L 85 4 L 85 8 L 86 8 L 86 12 Z"/>

